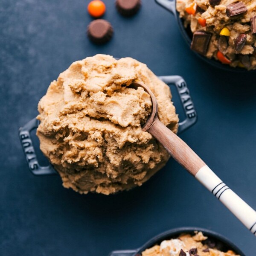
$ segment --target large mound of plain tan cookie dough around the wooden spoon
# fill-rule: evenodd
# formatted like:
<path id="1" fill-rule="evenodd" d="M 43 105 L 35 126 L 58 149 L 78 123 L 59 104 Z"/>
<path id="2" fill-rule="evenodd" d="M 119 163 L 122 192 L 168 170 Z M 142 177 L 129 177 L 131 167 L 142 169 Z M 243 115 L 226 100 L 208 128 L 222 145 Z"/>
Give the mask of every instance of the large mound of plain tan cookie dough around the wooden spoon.
<path id="1" fill-rule="evenodd" d="M 38 104 L 40 148 L 61 175 L 63 186 L 105 195 L 142 185 L 169 154 L 142 125 L 157 97 L 159 118 L 177 132 L 169 87 L 143 63 L 95 55 L 76 61 L 52 81 Z"/>

